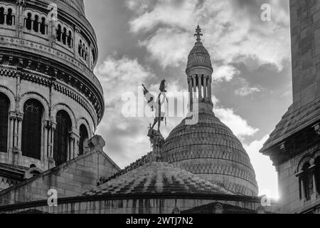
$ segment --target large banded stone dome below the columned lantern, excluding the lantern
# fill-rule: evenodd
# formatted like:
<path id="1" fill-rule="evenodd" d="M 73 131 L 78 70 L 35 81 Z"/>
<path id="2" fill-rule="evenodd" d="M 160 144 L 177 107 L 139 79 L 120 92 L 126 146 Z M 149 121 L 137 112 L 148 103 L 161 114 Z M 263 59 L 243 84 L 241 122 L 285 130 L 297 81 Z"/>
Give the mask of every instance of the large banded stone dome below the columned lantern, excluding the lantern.
<path id="1" fill-rule="evenodd" d="M 250 157 L 233 132 L 212 113 L 196 125 L 181 122 L 166 139 L 164 161 L 240 195 L 257 196 Z"/>

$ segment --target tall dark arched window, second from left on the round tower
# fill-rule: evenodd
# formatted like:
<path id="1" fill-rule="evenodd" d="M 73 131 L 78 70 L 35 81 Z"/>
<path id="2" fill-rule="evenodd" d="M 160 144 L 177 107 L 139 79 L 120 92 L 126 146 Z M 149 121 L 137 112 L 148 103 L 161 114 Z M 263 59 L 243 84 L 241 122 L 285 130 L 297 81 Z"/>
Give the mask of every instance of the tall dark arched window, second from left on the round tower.
<path id="1" fill-rule="evenodd" d="M 41 130 L 43 106 L 38 100 L 28 100 L 23 106 L 22 155 L 41 160 Z"/>

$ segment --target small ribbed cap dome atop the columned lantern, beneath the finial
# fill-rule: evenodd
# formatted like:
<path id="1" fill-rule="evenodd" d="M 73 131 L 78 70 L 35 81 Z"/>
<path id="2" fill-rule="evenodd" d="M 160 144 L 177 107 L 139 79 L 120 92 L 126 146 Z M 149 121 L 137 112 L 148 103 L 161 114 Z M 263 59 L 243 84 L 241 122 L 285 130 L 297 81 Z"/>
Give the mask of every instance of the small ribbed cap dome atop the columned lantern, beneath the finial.
<path id="1" fill-rule="evenodd" d="M 189 53 L 187 68 L 191 68 L 193 66 L 207 66 L 212 68 L 210 54 L 202 43 L 196 43 Z"/>

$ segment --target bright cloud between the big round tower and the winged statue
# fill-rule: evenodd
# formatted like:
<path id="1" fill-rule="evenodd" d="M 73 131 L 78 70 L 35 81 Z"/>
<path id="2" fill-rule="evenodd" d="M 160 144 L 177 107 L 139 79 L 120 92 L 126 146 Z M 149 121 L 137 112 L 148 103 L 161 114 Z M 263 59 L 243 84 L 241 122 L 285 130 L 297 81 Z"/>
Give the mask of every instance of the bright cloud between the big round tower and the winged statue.
<path id="1" fill-rule="evenodd" d="M 144 136 L 149 119 L 125 118 L 122 115 L 125 103 L 122 95 L 129 92 L 137 96 L 138 86 L 155 76 L 137 59 L 114 56 L 108 56 L 97 67 L 96 74 L 105 90 L 106 103 L 105 117 L 97 133 L 105 138 L 108 155 L 120 167 L 124 167 L 149 152 L 150 147 Z"/>

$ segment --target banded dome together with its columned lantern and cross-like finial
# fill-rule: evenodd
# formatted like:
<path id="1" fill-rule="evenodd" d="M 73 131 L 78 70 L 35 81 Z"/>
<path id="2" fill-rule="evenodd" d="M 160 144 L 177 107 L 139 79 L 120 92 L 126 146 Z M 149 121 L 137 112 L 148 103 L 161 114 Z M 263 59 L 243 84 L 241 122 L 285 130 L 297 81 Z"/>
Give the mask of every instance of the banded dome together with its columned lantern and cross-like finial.
<path id="1" fill-rule="evenodd" d="M 213 113 L 213 67 L 201 42 L 199 26 L 195 36 L 197 41 L 186 68 L 193 116 L 183 120 L 166 139 L 164 160 L 237 195 L 257 196 L 255 171 L 247 152 L 228 126 Z M 191 123 L 195 115 L 198 120 Z"/>

